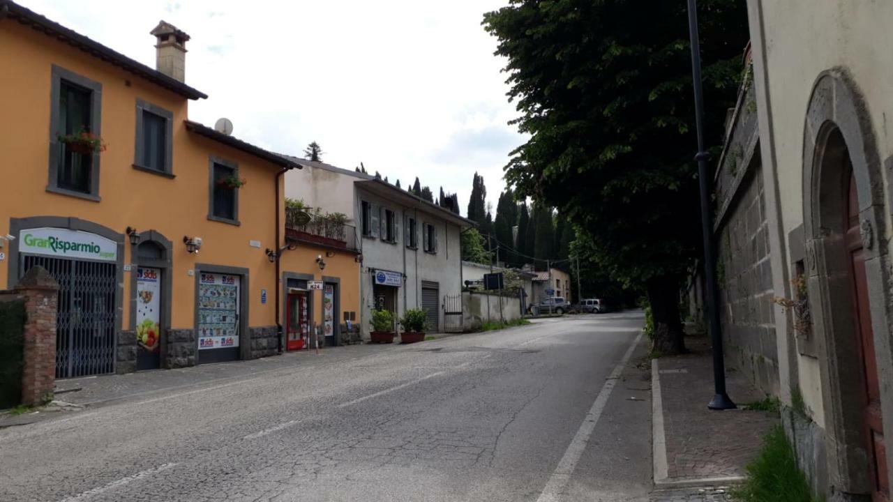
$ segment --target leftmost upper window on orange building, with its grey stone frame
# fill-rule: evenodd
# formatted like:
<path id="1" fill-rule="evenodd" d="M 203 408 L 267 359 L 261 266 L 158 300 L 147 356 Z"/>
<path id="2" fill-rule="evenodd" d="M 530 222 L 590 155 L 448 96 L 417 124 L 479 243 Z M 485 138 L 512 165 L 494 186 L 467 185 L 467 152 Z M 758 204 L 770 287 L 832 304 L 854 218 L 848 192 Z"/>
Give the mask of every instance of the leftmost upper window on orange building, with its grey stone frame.
<path id="1" fill-rule="evenodd" d="M 82 132 L 99 136 L 102 85 L 59 66 L 51 71 L 49 183 L 46 189 L 99 200 L 99 154 L 66 143 Z"/>

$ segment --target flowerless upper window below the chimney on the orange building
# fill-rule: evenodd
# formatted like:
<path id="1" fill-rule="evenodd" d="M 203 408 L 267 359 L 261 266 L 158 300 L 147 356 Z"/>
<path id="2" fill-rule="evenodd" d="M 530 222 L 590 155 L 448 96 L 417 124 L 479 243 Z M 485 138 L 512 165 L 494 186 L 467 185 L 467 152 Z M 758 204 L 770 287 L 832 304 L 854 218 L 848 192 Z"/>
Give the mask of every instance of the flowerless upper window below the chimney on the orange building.
<path id="1" fill-rule="evenodd" d="M 173 177 L 171 169 L 173 113 L 137 100 L 137 145 L 133 166 Z"/>

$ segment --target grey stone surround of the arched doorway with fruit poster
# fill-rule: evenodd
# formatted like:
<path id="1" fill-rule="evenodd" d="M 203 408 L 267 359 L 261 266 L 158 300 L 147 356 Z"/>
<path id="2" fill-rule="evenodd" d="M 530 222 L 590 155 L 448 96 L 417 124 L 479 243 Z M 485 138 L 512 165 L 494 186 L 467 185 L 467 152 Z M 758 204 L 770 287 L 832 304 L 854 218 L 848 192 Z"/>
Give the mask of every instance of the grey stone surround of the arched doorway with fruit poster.
<path id="1" fill-rule="evenodd" d="M 140 258 L 138 248 L 146 242 L 154 242 L 158 247 L 164 250 L 162 259 Z M 171 305 L 173 299 L 173 243 L 164 237 L 163 233 L 158 230 L 144 230 L 139 232 L 139 242 L 136 246 L 129 245 L 130 248 L 130 322 L 128 329 L 133 331 L 134 336 L 137 330 L 137 268 L 141 266 L 161 269 L 162 271 L 162 302 L 161 302 L 161 339 L 158 341 L 161 350 L 161 367 L 165 368 L 168 356 L 168 337 L 171 336 Z"/>

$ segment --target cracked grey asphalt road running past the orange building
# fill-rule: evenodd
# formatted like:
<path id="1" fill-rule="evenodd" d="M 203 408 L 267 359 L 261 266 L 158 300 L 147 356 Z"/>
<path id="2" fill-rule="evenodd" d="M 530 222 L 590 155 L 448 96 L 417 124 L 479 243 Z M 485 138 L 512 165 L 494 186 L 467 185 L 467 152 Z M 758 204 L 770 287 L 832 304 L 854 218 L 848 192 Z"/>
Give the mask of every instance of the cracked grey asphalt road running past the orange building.
<path id="1" fill-rule="evenodd" d="M 330 364 L 10 427 L 0 500 L 647 500 L 642 322 L 336 348 Z"/>

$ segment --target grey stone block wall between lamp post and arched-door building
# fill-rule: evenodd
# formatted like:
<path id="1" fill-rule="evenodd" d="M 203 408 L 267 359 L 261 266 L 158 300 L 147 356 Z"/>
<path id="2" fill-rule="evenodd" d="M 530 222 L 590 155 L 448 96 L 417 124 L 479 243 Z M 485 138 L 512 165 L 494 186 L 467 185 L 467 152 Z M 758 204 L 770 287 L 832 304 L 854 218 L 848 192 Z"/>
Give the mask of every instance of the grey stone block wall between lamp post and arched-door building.
<path id="1" fill-rule="evenodd" d="M 778 395 L 778 347 L 763 174 L 755 162 L 718 232 L 717 280 L 725 352 L 765 393 Z"/>

